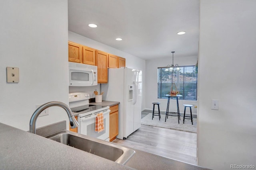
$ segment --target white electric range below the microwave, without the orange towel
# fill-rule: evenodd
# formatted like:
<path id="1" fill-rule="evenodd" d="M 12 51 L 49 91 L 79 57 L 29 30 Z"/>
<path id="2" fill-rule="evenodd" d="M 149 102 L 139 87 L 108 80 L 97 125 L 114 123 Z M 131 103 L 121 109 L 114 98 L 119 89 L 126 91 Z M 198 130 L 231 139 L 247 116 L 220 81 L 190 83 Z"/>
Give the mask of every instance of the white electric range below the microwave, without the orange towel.
<path id="1" fill-rule="evenodd" d="M 78 133 L 109 141 L 109 106 L 89 104 L 89 93 L 70 93 L 68 97 L 69 107 L 73 115 L 77 115 Z M 103 113 L 104 117 L 104 131 L 100 133 L 95 131 L 95 120 L 98 113 Z"/>

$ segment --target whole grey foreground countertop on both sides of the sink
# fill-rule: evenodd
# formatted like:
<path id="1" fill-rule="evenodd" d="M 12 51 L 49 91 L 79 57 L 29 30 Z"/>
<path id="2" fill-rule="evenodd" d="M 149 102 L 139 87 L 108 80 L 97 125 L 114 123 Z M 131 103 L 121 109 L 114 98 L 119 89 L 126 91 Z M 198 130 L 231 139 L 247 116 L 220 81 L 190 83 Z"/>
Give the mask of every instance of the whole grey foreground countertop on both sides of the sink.
<path id="1" fill-rule="evenodd" d="M 56 125 L 55 125 L 56 126 Z M 204 170 L 141 150 L 125 166 L 0 123 L 0 169 Z"/>

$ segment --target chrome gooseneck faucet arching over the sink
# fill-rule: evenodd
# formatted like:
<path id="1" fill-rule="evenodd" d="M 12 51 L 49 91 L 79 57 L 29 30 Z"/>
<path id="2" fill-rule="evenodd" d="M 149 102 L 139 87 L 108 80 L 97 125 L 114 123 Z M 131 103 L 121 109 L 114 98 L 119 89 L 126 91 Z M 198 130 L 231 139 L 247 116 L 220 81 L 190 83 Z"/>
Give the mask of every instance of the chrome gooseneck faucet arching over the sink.
<path id="1" fill-rule="evenodd" d="M 71 109 L 66 104 L 64 104 L 62 102 L 48 102 L 48 103 L 43 104 L 42 106 L 38 107 L 36 109 L 36 111 L 33 113 L 32 117 L 30 119 L 30 123 L 29 123 L 29 131 L 31 133 L 36 134 L 36 119 L 37 119 L 37 117 L 40 115 L 40 113 L 44 109 L 47 109 L 48 107 L 51 107 L 51 106 L 62 107 L 67 112 L 67 114 L 68 114 L 70 127 L 72 129 L 78 127 L 78 125 L 79 125 L 78 122 L 76 121 L 74 115 L 72 114 Z"/>

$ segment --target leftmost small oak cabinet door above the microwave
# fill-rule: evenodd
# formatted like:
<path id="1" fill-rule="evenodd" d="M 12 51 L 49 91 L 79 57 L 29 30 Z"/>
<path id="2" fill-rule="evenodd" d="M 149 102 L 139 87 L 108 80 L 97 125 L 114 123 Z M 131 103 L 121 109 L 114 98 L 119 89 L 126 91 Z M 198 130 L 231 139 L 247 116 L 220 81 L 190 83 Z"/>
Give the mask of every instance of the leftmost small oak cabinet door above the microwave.
<path id="1" fill-rule="evenodd" d="M 82 45 L 68 41 L 68 61 L 82 63 Z"/>

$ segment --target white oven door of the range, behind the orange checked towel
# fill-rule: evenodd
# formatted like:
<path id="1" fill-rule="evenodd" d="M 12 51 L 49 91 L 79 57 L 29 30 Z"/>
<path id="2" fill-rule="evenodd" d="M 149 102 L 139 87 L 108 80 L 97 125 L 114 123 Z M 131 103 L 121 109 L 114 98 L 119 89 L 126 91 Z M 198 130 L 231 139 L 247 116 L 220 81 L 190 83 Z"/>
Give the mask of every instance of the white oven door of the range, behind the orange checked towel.
<path id="1" fill-rule="evenodd" d="M 102 112 L 104 117 L 104 131 L 98 133 L 95 131 L 95 121 L 97 114 Z M 110 109 L 107 109 L 84 117 L 78 116 L 78 133 L 109 141 L 109 113 Z"/>

